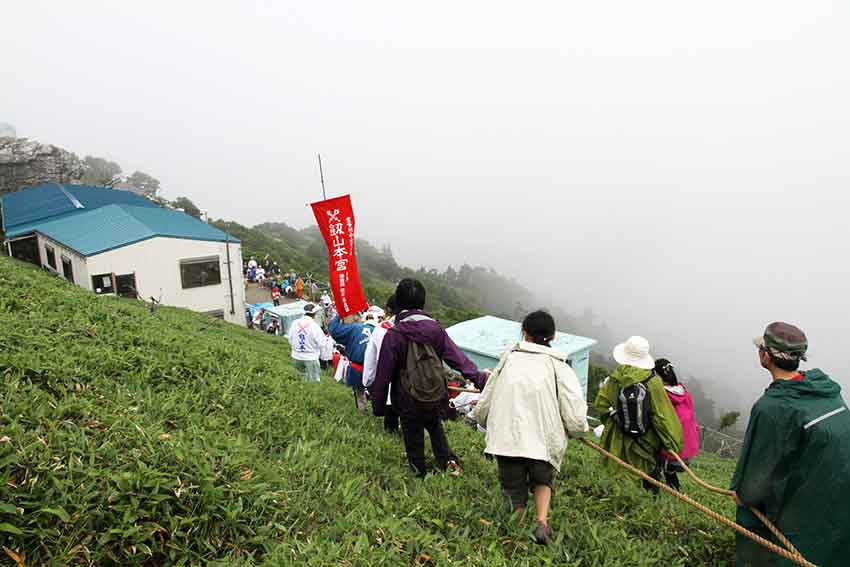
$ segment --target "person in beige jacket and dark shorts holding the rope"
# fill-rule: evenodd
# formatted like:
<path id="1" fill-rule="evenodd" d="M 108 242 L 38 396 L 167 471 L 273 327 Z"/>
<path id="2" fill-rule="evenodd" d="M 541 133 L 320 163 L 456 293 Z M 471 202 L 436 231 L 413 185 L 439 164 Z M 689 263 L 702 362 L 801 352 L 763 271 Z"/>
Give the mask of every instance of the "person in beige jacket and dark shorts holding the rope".
<path id="1" fill-rule="evenodd" d="M 534 536 L 549 543 L 555 476 L 567 449 L 567 432 L 584 433 L 587 402 L 566 356 L 549 347 L 555 321 L 535 311 L 522 322 L 523 339 L 499 361 L 470 417 L 487 429 L 485 452 L 495 455 L 502 492 L 520 517 L 534 493 Z"/>

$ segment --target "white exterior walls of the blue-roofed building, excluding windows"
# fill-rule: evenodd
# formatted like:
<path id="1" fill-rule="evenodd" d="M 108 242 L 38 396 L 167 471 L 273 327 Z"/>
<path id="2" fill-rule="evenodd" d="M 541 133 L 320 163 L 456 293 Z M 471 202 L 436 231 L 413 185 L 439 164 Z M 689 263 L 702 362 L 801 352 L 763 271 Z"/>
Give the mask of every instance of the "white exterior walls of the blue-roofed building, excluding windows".
<path id="1" fill-rule="evenodd" d="M 231 313 L 227 272 L 227 244 L 206 240 L 150 238 L 115 250 L 86 258 L 86 289 L 93 289 L 91 277 L 99 274 L 132 274 L 136 289 L 144 298 L 162 297 L 164 305 L 185 307 L 193 311 L 221 310 L 226 321 L 245 323 L 245 285 L 242 278 L 242 247 L 230 243 L 230 269 L 233 278 L 233 313 Z M 183 288 L 181 260 L 218 257 L 221 283 Z M 76 273 L 76 272 L 75 272 Z"/>

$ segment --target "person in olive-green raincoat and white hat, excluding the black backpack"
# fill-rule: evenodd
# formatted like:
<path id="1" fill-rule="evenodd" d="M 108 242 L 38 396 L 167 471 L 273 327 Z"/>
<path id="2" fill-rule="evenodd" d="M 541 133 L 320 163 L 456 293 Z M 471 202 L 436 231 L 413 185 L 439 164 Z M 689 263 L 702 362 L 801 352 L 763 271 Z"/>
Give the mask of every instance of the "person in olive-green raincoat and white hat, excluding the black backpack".
<path id="1" fill-rule="evenodd" d="M 645 338 L 631 337 L 617 345 L 614 360 L 619 366 L 600 387 L 593 404 L 605 426 L 600 444 L 606 451 L 646 474 L 659 477 L 661 450 L 677 453 L 682 450 L 682 424 L 664 391 L 664 382 L 654 372 L 655 360 L 649 354 L 649 342 Z M 652 427 L 644 435 L 632 437 L 620 429 L 613 414 L 620 390 L 640 382 L 646 383 L 649 393 Z M 644 486 L 652 492 L 658 491 L 646 481 Z"/>

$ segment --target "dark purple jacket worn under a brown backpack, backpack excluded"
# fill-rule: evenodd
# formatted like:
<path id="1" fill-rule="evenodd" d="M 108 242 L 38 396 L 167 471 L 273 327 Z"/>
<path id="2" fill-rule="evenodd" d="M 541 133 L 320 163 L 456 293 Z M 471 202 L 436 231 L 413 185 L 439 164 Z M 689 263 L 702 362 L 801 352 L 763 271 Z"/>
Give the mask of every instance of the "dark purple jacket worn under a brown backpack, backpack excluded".
<path id="1" fill-rule="evenodd" d="M 428 344 L 434 347 L 437 356 L 443 359 L 450 368 L 460 372 L 466 379 L 472 380 L 478 388 L 484 387 L 486 376 L 479 372 L 475 364 L 469 360 L 457 345 L 449 338 L 439 323 L 424 312 L 415 309 L 402 311 L 396 317 L 395 327 L 384 336 L 381 353 L 378 356 L 378 371 L 372 384 L 372 411 L 375 415 L 384 415 L 387 399 L 387 389 L 392 384 L 391 401 L 395 411 L 404 417 L 427 416 L 439 411 L 442 414 L 448 410 L 448 395 L 444 396 L 436 407 L 423 405 L 410 397 L 398 381 L 398 374 L 407 360 L 407 346 L 410 341 Z"/>

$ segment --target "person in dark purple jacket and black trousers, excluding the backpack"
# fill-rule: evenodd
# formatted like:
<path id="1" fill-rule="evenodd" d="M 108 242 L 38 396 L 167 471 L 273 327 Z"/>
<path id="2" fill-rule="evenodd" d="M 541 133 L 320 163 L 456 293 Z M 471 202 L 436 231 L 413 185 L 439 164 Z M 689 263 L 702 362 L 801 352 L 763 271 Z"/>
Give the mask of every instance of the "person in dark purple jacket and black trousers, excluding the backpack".
<path id="1" fill-rule="evenodd" d="M 425 308 L 425 287 L 414 279 L 404 279 L 396 288 L 396 305 L 399 314 L 395 327 L 384 337 L 378 357 L 378 370 L 372 385 L 372 411 L 383 416 L 386 411 L 387 389 L 392 385 L 392 407 L 399 414 L 404 448 L 410 466 L 420 477 L 424 477 L 425 468 L 425 432 L 431 438 L 431 447 L 437 464 L 453 476 L 460 475 L 458 457 L 455 455 L 442 419 L 449 409 L 448 391 L 437 403 L 424 404 L 414 400 L 399 382 L 399 371 L 407 358 L 410 341 L 428 344 L 449 367 L 472 380 L 478 388 L 483 388 L 489 371 L 479 372 L 475 364 L 464 355 L 446 331 L 434 319 L 429 317 Z"/>

